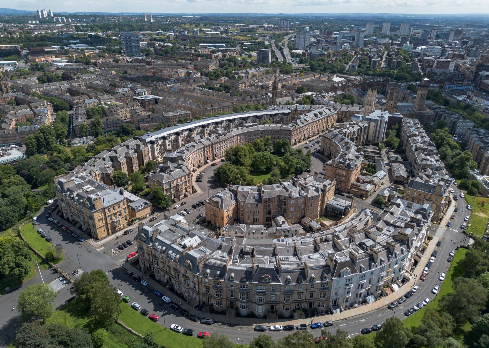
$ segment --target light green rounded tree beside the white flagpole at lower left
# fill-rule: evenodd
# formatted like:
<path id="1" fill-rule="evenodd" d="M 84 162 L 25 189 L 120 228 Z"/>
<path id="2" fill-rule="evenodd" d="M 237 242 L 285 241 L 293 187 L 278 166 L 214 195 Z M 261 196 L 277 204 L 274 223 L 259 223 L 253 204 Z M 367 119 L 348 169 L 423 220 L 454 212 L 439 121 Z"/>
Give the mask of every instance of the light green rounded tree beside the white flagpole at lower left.
<path id="1" fill-rule="evenodd" d="M 56 293 L 48 284 L 33 284 L 19 294 L 18 309 L 22 323 L 49 318 L 54 311 L 53 301 Z"/>

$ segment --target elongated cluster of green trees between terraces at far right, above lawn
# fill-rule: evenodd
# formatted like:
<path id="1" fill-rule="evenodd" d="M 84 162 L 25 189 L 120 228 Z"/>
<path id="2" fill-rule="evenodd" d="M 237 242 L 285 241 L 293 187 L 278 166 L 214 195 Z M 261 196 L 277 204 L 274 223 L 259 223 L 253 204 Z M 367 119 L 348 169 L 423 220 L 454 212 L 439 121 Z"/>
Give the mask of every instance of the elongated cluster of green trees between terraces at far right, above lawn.
<path id="1" fill-rule="evenodd" d="M 477 163 L 472 159 L 469 151 L 462 151 L 448 128 L 437 129 L 430 134 L 430 138 L 438 149 L 440 158 L 445 161 L 448 171 L 457 179 L 469 179 L 471 177 L 469 169 L 476 169 Z"/>

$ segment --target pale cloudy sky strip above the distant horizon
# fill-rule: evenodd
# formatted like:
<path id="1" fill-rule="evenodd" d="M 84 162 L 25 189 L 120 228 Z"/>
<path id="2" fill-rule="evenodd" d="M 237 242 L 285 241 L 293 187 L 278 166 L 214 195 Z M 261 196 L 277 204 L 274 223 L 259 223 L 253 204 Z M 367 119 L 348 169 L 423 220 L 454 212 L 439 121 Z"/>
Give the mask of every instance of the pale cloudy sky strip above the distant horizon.
<path id="1" fill-rule="evenodd" d="M 161 13 L 489 13 L 489 0 L 16 0 L 16 9 Z M 12 7 L 14 7 L 12 6 Z"/>

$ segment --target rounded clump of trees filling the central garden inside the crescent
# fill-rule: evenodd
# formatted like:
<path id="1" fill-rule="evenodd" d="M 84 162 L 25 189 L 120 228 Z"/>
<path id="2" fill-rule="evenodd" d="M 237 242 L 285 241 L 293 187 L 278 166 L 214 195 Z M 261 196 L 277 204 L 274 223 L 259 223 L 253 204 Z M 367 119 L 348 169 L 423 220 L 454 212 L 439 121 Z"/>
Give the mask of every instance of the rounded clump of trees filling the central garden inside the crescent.
<path id="1" fill-rule="evenodd" d="M 270 173 L 265 184 L 276 184 L 290 174 L 300 174 L 311 166 L 311 151 L 292 149 L 287 140 L 271 142 L 269 136 L 226 150 L 226 163 L 214 171 L 222 184 L 254 185 L 251 173 Z"/>

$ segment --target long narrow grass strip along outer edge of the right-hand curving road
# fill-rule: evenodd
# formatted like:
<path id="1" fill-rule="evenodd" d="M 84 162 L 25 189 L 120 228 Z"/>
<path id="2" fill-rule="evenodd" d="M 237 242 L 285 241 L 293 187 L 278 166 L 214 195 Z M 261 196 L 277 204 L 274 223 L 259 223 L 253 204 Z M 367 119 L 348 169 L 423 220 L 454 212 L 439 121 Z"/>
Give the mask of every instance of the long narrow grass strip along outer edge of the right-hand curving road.
<path id="1" fill-rule="evenodd" d="M 455 252 L 455 256 L 453 257 L 452 264 L 450 266 L 450 269 L 448 272 L 446 272 L 445 280 L 443 281 L 442 286 L 440 287 L 440 290 L 438 291 L 438 294 L 436 295 L 435 298 L 431 299 L 431 302 L 428 303 L 427 306 L 423 307 L 420 309 L 418 312 L 412 314 L 411 316 L 407 317 L 402 321 L 404 323 L 404 326 L 407 327 L 413 327 L 413 326 L 418 326 L 421 323 L 421 319 L 423 317 L 424 312 L 426 311 L 426 308 L 435 308 L 438 309 L 438 302 L 442 296 L 451 293 L 453 291 L 453 279 L 455 279 L 458 276 L 461 276 L 461 270 L 458 267 L 458 264 L 461 260 L 465 258 L 465 254 L 467 252 L 467 249 L 460 248 Z M 436 274 L 432 275 L 436 276 Z M 420 298 L 420 301 L 422 298 Z"/>

